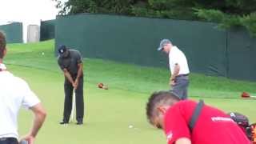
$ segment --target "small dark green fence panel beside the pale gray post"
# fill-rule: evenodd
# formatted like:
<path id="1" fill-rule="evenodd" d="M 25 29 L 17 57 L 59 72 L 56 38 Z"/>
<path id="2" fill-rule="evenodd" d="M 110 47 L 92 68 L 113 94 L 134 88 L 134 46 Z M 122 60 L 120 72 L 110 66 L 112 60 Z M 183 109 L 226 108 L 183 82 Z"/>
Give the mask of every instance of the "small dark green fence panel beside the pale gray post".
<path id="1" fill-rule="evenodd" d="M 46 41 L 55 37 L 55 20 L 41 21 L 40 41 Z"/>

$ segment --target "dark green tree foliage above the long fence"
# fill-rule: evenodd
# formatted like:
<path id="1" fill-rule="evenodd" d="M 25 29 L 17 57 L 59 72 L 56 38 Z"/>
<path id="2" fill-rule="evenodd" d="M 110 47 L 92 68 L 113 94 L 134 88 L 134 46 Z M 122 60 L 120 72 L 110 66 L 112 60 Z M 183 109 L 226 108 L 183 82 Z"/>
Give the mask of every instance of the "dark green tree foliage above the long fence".
<path id="1" fill-rule="evenodd" d="M 58 2 L 60 14 L 123 14 L 219 22 L 221 27 L 245 26 L 256 35 L 256 0 L 69 0 Z"/>

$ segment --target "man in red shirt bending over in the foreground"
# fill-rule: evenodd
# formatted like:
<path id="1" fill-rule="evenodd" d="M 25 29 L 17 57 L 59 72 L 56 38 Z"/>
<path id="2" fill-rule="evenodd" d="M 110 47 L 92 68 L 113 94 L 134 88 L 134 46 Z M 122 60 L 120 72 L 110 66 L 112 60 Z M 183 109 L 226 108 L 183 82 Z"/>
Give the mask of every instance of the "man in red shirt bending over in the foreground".
<path id="1" fill-rule="evenodd" d="M 159 91 L 150 96 L 146 114 L 153 126 L 165 131 L 168 144 L 250 144 L 238 125 L 212 106 L 202 105 L 191 128 L 197 107 L 198 102 L 180 101 L 173 92 Z"/>

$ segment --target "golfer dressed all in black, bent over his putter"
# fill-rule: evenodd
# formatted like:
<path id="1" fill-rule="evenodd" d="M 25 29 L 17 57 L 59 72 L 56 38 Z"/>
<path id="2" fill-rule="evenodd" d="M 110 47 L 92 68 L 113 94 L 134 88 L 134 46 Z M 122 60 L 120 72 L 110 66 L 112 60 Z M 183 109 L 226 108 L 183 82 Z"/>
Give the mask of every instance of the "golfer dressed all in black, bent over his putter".
<path id="1" fill-rule="evenodd" d="M 83 102 L 83 70 L 82 57 L 78 50 L 68 50 L 66 46 L 58 47 L 58 65 L 65 76 L 64 90 L 65 102 L 63 119 L 60 124 L 67 124 L 70 120 L 72 110 L 73 90 L 75 91 L 76 119 L 77 124 L 83 124 L 84 102 Z"/>

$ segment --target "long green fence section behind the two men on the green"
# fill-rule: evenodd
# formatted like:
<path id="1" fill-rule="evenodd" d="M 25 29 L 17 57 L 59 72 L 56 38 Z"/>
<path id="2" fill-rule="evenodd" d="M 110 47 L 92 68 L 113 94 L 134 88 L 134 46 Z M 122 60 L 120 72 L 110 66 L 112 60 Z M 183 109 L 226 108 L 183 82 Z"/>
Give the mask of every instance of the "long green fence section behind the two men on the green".
<path id="1" fill-rule="evenodd" d="M 84 57 L 169 68 L 156 49 L 170 38 L 189 61 L 192 72 L 226 76 L 226 32 L 216 24 L 105 14 L 58 17 L 55 44 L 70 46 Z"/>

